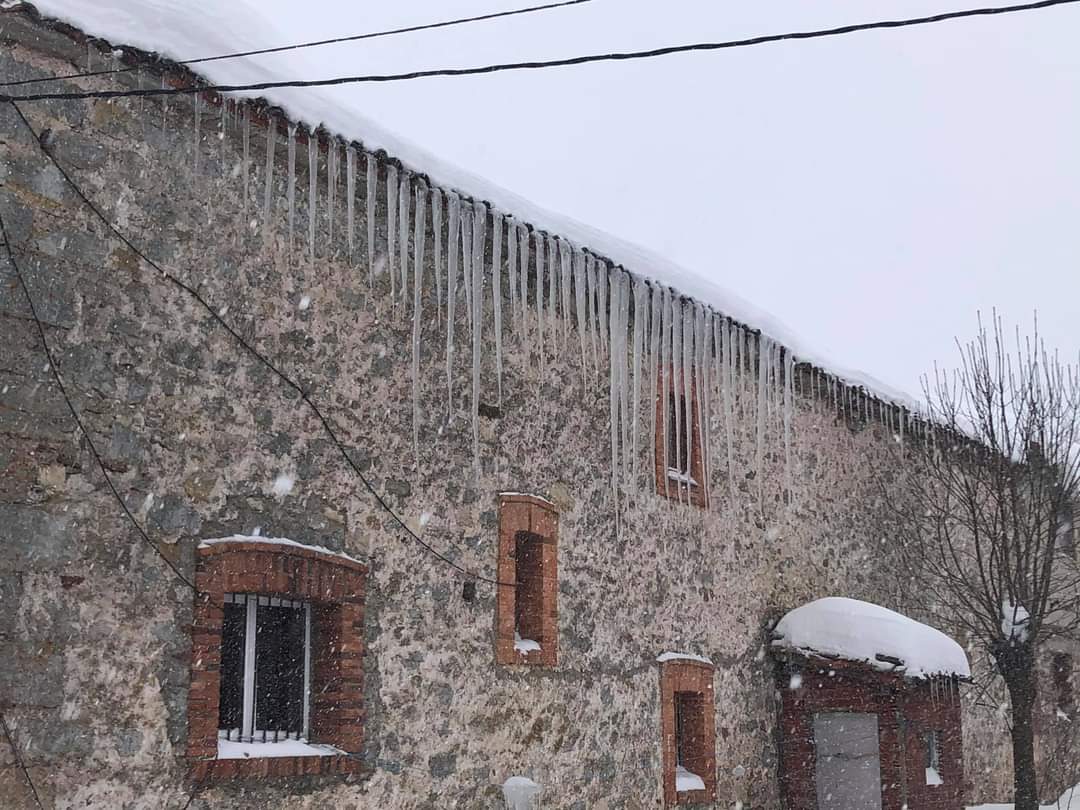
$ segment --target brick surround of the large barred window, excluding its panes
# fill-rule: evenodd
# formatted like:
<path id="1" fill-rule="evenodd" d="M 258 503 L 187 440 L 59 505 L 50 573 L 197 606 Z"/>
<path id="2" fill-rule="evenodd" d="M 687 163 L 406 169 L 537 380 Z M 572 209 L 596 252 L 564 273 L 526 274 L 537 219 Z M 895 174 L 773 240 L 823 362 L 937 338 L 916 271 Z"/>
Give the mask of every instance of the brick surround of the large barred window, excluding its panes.
<path id="1" fill-rule="evenodd" d="M 363 743 L 364 586 L 367 567 L 300 544 L 259 541 L 200 545 L 195 559 L 188 696 L 193 779 L 355 773 L 351 756 L 217 759 L 221 622 L 227 593 L 311 604 L 311 743 L 357 752 Z"/>

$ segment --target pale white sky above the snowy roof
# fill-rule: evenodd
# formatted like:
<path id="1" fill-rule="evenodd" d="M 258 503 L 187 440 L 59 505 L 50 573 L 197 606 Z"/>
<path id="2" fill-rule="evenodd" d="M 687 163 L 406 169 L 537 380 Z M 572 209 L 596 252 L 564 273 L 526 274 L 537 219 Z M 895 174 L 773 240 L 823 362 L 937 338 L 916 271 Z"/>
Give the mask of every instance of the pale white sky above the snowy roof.
<path id="1" fill-rule="evenodd" d="M 527 4 L 532 0 L 39 6 L 116 41 L 190 58 Z M 217 63 L 210 75 L 258 80 L 471 66 L 977 4 L 593 0 L 243 66 Z M 635 63 L 282 96 L 303 93 L 361 110 L 443 163 L 753 301 L 834 366 L 916 394 L 935 360 L 955 360 L 954 337 L 974 333 L 978 309 L 997 307 L 1022 325 L 1038 310 L 1051 346 L 1072 357 L 1080 350 L 1078 35 L 1080 4 Z"/>

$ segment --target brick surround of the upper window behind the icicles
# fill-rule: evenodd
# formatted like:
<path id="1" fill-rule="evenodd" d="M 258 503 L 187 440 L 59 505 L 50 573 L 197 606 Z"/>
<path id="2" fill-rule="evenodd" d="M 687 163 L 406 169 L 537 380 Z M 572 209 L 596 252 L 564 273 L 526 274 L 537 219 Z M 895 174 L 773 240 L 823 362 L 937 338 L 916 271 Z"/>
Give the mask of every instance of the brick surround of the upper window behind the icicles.
<path id="1" fill-rule="evenodd" d="M 686 387 L 683 376 L 673 379 L 673 369 L 669 366 L 663 369 L 657 378 L 657 435 L 653 437 L 656 445 L 656 473 L 658 495 L 671 498 L 683 503 L 692 503 L 696 507 L 705 509 L 707 505 L 705 492 L 705 471 L 704 471 L 704 447 L 701 441 L 701 404 L 698 401 L 698 388 L 691 381 L 690 384 L 690 477 L 694 483 L 684 483 L 670 477 L 669 471 L 675 471 L 681 465 L 686 467 L 686 460 L 676 458 L 681 453 L 673 454 L 674 437 L 672 431 L 675 426 L 675 416 L 672 413 L 672 403 L 677 403 L 679 411 L 679 429 L 686 432 Z M 662 379 L 661 379 L 662 378 Z M 672 383 L 675 384 L 673 390 Z M 666 405 L 665 405 L 666 404 Z M 667 430 L 664 430 L 664 416 L 667 417 Z M 679 438 L 679 447 L 685 448 L 685 438 Z"/>

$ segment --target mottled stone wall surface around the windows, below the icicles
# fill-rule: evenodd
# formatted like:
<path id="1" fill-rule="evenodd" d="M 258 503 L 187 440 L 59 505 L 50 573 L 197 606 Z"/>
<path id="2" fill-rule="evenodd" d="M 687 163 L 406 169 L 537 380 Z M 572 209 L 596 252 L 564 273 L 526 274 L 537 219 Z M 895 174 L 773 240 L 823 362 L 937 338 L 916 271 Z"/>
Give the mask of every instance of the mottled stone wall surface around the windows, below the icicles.
<path id="1" fill-rule="evenodd" d="M 4 77 L 85 68 L 84 43 L 21 13 L 4 15 L 0 38 Z M 337 241 L 321 215 L 316 258 L 307 258 L 302 157 L 291 251 L 284 148 L 268 222 L 258 125 L 245 205 L 240 133 L 222 126 L 218 107 L 199 117 L 198 161 L 190 99 L 23 109 L 134 244 L 301 382 L 426 542 L 492 577 L 500 491 L 546 497 L 559 512 L 558 663 L 496 665 L 495 589 L 476 581 L 476 598 L 463 598 L 473 580 L 403 534 L 297 393 L 111 237 L 0 106 L 0 216 L 68 393 L 161 553 L 190 577 L 201 539 L 259 530 L 369 565 L 363 773 L 193 784 L 185 759 L 192 593 L 125 522 L 52 379 L 13 268 L 0 262 L 0 705 L 46 807 L 183 807 L 199 787 L 192 808 L 478 809 L 500 806 L 512 774 L 539 782 L 546 808 L 657 807 L 656 658 L 665 650 L 716 664 L 718 806 L 779 807 L 768 626 L 814 597 L 891 593 L 888 543 L 868 531 L 877 478 L 888 480 L 901 451 L 888 431 L 800 396 L 791 464 L 773 414 L 758 474 L 756 380 L 744 375 L 732 481 L 726 463 L 712 465 L 706 512 L 652 494 L 645 396 L 636 491 L 617 502 L 606 366 L 582 370 L 572 329 L 565 349 L 556 335 L 558 351 L 549 345 L 541 366 L 531 327 L 523 334 L 508 318 L 501 402 L 491 352 L 482 366 L 477 471 L 463 307 L 448 403 L 445 323 L 426 286 L 417 459 L 411 305 L 391 300 L 386 272 L 368 289 L 366 262 L 351 260 L 340 239 L 343 205 Z M 376 213 L 380 246 L 384 215 Z M 365 216 L 361 208 L 361 257 Z M 429 217 L 429 240 L 430 228 Z M 432 262 L 429 247 L 429 279 Z M 713 424 L 714 444 L 721 433 Z M 282 473 L 296 483 L 275 494 Z M 32 806 L 4 745 L 0 796 Z"/>

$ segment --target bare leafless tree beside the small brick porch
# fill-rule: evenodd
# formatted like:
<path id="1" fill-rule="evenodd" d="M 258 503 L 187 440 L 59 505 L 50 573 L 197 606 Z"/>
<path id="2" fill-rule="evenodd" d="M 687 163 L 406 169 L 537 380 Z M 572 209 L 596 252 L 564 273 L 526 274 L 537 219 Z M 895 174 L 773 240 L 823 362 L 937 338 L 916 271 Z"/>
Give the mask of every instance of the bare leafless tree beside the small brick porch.
<path id="1" fill-rule="evenodd" d="M 1007 346 L 980 321 L 961 362 L 924 383 L 922 440 L 908 442 L 890 524 L 927 607 L 977 644 L 1009 692 L 1016 810 L 1037 810 L 1039 651 L 1075 635 L 1080 571 L 1065 519 L 1080 480 L 1080 367 L 1035 333 Z"/>

